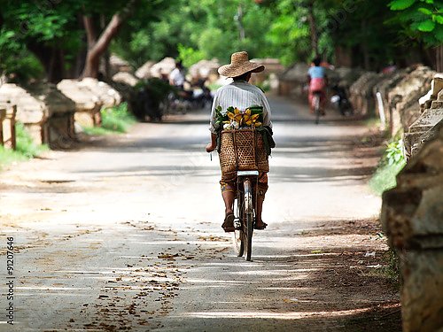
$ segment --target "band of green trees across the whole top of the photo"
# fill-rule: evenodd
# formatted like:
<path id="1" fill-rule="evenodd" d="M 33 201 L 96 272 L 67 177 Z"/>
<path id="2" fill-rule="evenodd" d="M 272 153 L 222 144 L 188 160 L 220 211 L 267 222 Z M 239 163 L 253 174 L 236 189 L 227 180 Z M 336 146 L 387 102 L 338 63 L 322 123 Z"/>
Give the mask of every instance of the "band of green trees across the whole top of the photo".
<path id="1" fill-rule="evenodd" d="M 378 70 L 437 66 L 442 44 L 439 0 L 0 0 L 0 73 L 50 81 L 97 76 L 108 50 L 135 67 L 248 50 L 286 66 L 320 55 Z"/>

